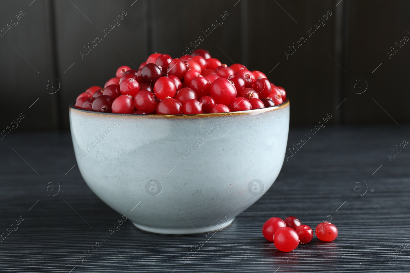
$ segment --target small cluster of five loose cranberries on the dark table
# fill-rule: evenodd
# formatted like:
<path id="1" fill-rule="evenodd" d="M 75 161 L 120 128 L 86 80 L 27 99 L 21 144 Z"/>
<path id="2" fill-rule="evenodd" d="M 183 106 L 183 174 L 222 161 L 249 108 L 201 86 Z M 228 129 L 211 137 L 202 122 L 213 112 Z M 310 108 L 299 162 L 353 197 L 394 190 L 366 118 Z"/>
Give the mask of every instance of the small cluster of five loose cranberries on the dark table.
<path id="1" fill-rule="evenodd" d="M 330 242 L 337 237 L 337 228 L 332 223 L 325 221 L 317 225 L 314 230 L 317 239 Z M 262 234 L 268 241 L 273 241 L 280 251 L 294 250 L 299 243 L 307 244 L 313 239 L 312 228 L 302 225 L 296 217 L 289 216 L 283 221 L 272 217 L 262 227 Z"/>

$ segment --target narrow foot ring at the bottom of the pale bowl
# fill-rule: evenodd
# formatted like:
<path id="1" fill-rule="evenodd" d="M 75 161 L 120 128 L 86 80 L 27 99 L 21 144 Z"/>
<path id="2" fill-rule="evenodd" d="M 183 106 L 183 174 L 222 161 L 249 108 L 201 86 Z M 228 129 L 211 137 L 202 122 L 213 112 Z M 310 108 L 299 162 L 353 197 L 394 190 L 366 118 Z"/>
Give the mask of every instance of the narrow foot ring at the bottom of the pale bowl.
<path id="1" fill-rule="evenodd" d="M 219 224 L 217 227 L 215 226 L 209 226 L 209 227 L 200 227 L 200 228 L 154 228 L 154 227 L 149 227 L 149 226 L 143 226 L 137 223 L 134 223 L 134 226 L 137 228 L 144 230 L 146 232 L 150 233 L 157 233 L 157 234 L 163 234 L 163 235 L 192 235 L 192 234 L 201 234 L 201 233 L 207 233 L 207 232 L 214 232 L 215 230 L 222 230 L 224 228 L 227 228 L 230 226 L 235 218 L 229 219 L 223 224 Z"/>

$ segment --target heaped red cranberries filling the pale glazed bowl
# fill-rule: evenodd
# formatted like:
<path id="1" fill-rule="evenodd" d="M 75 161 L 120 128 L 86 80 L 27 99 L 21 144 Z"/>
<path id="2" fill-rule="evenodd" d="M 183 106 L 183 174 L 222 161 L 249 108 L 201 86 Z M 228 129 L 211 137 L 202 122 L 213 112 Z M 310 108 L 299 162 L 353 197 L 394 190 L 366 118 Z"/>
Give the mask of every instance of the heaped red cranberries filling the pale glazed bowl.
<path id="1" fill-rule="evenodd" d="M 104 88 L 91 86 L 75 107 L 121 114 L 201 114 L 244 111 L 281 104 L 286 92 L 260 71 L 231 66 L 197 49 L 173 59 L 155 53 L 138 70 L 124 65 Z"/>

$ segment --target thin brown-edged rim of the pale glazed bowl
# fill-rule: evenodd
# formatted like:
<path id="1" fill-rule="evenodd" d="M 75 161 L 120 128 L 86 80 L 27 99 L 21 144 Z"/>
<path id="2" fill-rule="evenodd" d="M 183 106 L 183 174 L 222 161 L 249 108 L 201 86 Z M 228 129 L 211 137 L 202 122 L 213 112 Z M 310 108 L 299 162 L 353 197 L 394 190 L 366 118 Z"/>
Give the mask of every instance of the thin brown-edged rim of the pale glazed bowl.
<path id="1" fill-rule="evenodd" d="M 201 118 L 201 117 L 226 117 L 228 116 L 235 116 L 235 115 L 256 115 L 259 113 L 271 112 L 276 110 L 281 110 L 289 106 L 289 99 L 286 99 L 285 102 L 281 104 L 259 108 L 259 109 L 251 109 L 251 110 L 244 110 L 244 111 L 237 111 L 237 112 L 222 112 L 222 113 L 202 113 L 202 114 L 178 114 L 178 115 L 162 115 L 162 114 L 155 114 L 155 115 L 143 115 L 143 114 L 120 114 L 120 113 L 104 113 L 104 112 L 96 112 L 96 111 L 88 111 L 84 109 L 75 108 L 73 104 L 70 103 L 68 106 L 69 111 L 80 111 L 80 113 L 85 113 L 87 115 L 102 115 L 102 116 L 123 116 L 127 115 L 127 117 L 134 117 L 134 118 Z"/>

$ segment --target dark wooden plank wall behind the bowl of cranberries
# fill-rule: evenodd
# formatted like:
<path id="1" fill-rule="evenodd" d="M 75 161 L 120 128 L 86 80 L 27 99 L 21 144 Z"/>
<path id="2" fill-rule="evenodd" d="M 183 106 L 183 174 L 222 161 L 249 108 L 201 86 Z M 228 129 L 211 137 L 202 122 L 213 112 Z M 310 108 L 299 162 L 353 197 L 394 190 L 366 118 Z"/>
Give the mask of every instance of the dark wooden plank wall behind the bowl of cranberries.
<path id="1" fill-rule="evenodd" d="M 316 124 L 329 112 L 337 124 L 408 122 L 410 45 L 401 41 L 410 37 L 409 10 L 404 0 L 3 1 L 0 130 L 20 113 L 21 129 L 67 129 L 68 102 L 86 88 L 154 52 L 180 57 L 199 36 L 199 47 L 223 63 L 243 63 L 283 86 L 292 124 Z M 123 11 L 121 24 L 82 58 Z M 301 36 L 306 41 L 287 56 Z"/>

